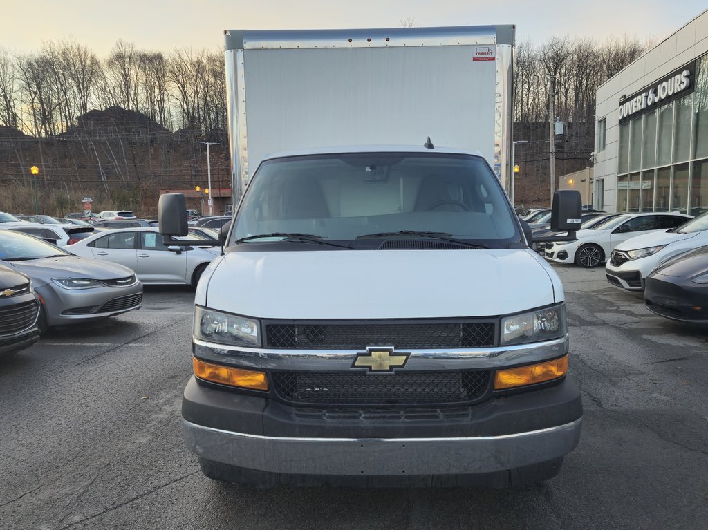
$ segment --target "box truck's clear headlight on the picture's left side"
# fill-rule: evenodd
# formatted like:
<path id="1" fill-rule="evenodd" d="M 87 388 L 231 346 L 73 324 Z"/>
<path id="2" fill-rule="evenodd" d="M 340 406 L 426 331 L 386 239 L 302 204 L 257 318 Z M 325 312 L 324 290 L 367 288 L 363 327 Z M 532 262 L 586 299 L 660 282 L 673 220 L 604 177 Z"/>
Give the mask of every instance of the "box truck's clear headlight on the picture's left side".
<path id="1" fill-rule="evenodd" d="M 261 345 L 258 334 L 260 327 L 260 323 L 253 318 L 195 307 L 194 337 L 201 340 L 217 344 L 257 347 Z"/>

